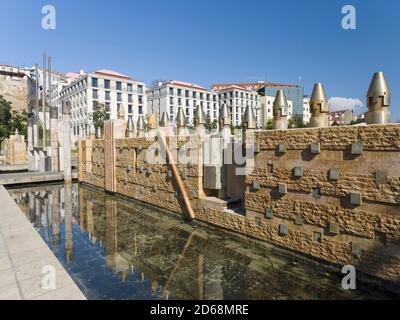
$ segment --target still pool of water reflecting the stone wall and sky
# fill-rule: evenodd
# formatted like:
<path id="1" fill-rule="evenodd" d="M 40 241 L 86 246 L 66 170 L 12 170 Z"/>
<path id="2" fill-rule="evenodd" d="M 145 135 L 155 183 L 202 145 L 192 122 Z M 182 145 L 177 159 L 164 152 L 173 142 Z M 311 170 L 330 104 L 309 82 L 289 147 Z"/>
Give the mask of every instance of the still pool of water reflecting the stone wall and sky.
<path id="1" fill-rule="evenodd" d="M 381 299 L 274 247 L 73 184 L 10 190 L 88 299 Z"/>

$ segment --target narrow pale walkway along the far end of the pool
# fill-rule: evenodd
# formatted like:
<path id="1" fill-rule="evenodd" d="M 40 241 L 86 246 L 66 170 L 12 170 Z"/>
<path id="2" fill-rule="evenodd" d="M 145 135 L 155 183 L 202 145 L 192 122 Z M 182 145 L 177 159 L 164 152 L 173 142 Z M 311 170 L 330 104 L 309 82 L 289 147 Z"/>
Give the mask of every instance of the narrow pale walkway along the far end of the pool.
<path id="1" fill-rule="evenodd" d="M 24 184 L 24 183 L 40 183 L 63 180 L 62 172 L 18 172 L 18 173 L 1 173 L 0 184 Z"/>

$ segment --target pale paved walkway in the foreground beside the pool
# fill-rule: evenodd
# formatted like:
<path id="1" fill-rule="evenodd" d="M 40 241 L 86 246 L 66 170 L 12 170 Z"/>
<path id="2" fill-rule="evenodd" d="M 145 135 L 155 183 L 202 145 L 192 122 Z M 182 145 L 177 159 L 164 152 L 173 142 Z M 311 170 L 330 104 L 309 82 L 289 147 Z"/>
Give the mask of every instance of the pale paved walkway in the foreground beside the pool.
<path id="1" fill-rule="evenodd" d="M 1 185 L 0 208 L 0 300 L 85 300 Z M 55 271 L 54 289 L 43 288 L 42 282 L 49 283 L 44 281 L 49 279 L 46 270 Z"/>

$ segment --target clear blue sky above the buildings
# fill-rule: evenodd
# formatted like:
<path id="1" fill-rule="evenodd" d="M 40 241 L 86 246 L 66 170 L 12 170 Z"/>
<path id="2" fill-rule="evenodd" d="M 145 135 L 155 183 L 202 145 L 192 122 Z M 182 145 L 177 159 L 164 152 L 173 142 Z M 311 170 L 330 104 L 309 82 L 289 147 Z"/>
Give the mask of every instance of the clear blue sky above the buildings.
<path id="1" fill-rule="evenodd" d="M 41 28 L 41 8 L 57 29 Z M 357 29 L 341 28 L 341 8 Z M 1 0 L 0 63 L 33 65 L 46 50 L 54 68 L 114 69 L 149 84 L 179 79 L 204 86 L 264 80 L 323 82 L 330 97 L 361 99 L 373 72 L 392 89 L 400 118 L 398 0 Z"/>

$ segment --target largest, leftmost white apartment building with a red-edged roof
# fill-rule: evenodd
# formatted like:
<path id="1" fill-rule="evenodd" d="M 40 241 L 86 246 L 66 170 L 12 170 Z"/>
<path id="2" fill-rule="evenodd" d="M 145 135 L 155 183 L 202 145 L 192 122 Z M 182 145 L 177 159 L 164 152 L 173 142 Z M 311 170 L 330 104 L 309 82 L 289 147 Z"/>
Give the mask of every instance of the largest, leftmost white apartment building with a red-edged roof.
<path id="1" fill-rule="evenodd" d="M 65 100 L 71 103 L 71 130 L 75 139 L 89 134 L 96 102 L 104 104 L 110 119 L 117 118 L 119 106 L 124 108 L 125 119 L 133 117 L 135 124 L 139 115 L 147 113 L 145 84 L 111 70 L 81 72 L 60 92 L 59 112 Z"/>

